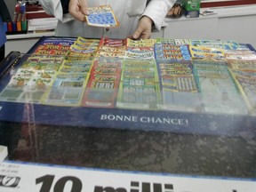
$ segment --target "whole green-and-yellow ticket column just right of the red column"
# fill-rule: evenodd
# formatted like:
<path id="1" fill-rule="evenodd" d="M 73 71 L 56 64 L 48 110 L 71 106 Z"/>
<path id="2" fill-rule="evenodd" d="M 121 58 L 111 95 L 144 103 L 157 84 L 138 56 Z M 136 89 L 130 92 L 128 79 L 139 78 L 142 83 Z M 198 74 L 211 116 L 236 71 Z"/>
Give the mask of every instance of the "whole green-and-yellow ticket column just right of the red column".
<path id="1" fill-rule="evenodd" d="M 160 91 L 154 44 L 154 39 L 127 39 L 117 107 L 159 108 Z"/>

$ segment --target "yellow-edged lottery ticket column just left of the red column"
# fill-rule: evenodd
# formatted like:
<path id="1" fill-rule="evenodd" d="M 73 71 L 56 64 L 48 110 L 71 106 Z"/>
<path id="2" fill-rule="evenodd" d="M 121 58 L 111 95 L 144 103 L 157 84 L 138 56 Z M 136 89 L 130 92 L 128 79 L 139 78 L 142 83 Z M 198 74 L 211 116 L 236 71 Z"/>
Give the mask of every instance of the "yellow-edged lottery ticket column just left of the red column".
<path id="1" fill-rule="evenodd" d="M 100 40 L 78 37 L 70 45 L 44 104 L 81 106 Z"/>

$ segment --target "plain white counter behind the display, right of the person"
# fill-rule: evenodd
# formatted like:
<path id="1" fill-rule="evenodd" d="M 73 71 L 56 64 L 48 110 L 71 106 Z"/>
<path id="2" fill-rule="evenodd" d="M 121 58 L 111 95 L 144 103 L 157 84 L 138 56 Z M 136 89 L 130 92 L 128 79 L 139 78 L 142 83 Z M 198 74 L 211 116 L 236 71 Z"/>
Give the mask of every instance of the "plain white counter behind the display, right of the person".
<path id="1" fill-rule="evenodd" d="M 233 40 L 256 48 L 256 5 L 212 10 L 217 14 L 166 19 L 164 37 Z"/>

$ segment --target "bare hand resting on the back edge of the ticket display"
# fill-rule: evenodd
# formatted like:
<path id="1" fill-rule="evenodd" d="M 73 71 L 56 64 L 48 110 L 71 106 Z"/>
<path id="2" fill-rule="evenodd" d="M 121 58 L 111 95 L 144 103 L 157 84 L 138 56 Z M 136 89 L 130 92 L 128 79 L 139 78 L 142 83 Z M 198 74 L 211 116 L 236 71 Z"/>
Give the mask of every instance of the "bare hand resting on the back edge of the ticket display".
<path id="1" fill-rule="evenodd" d="M 138 28 L 132 34 L 133 39 L 148 39 L 151 36 L 153 20 L 147 16 L 143 16 L 138 24 Z"/>

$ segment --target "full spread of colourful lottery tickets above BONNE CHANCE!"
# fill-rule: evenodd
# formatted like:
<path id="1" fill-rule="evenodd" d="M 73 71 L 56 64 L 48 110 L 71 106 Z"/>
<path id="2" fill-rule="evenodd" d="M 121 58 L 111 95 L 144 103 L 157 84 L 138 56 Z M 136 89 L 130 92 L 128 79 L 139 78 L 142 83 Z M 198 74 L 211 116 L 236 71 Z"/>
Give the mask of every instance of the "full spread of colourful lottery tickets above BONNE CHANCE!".
<path id="1" fill-rule="evenodd" d="M 0 100 L 255 115 L 255 92 L 256 52 L 248 44 L 45 37 Z"/>

